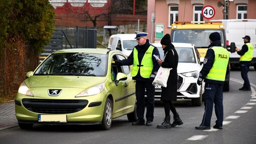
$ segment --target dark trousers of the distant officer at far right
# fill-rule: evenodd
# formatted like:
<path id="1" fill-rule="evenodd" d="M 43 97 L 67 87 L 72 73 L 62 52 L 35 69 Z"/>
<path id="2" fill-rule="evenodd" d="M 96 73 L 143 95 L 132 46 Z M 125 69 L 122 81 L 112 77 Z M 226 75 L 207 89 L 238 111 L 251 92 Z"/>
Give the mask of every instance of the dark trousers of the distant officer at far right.
<path id="1" fill-rule="evenodd" d="M 239 63 L 241 69 L 241 77 L 244 80 L 243 88 L 251 89 L 250 81 L 248 79 L 248 71 L 251 63 Z"/>

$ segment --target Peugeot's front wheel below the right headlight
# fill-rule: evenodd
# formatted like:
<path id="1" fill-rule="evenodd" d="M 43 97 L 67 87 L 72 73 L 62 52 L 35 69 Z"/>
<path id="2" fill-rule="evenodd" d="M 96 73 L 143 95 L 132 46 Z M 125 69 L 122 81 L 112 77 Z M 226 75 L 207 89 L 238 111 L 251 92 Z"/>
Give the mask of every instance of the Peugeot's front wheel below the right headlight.
<path id="1" fill-rule="evenodd" d="M 101 121 L 102 130 L 110 129 L 112 124 L 112 102 L 109 98 L 106 99 L 103 117 Z"/>

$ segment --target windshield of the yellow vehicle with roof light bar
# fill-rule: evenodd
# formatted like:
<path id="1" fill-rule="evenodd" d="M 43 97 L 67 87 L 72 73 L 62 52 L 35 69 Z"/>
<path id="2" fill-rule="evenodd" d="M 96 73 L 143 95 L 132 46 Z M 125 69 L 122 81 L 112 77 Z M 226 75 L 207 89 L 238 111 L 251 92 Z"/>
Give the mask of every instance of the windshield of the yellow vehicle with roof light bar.
<path id="1" fill-rule="evenodd" d="M 221 29 L 175 29 L 172 31 L 173 43 L 193 43 L 197 48 L 208 47 L 210 34 L 218 32 L 221 37 L 221 45 L 224 46 L 224 36 Z"/>

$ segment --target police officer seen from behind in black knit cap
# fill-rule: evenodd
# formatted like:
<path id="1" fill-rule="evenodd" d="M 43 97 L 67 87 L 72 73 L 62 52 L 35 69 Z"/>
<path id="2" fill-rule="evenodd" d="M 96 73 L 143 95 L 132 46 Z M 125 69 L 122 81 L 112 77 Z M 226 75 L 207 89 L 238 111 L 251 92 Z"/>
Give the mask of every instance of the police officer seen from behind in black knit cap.
<path id="1" fill-rule="evenodd" d="M 223 122 L 223 84 L 229 73 L 229 52 L 221 46 L 218 32 L 211 33 L 210 45 L 199 73 L 197 84 L 204 80 L 204 114 L 200 126 L 196 129 L 210 129 L 213 103 L 215 104 L 216 124 L 213 128 L 222 129 Z"/>

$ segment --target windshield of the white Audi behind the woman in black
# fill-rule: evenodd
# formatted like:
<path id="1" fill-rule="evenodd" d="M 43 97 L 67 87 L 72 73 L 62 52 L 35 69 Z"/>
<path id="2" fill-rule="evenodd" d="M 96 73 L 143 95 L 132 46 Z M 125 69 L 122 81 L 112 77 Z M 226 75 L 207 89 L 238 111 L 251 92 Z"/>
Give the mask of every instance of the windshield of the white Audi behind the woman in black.
<path id="1" fill-rule="evenodd" d="M 192 47 L 175 47 L 179 55 L 179 63 L 196 63 L 194 51 Z M 158 47 L 160 58 L 164 59 L 163 48 Z"/>

